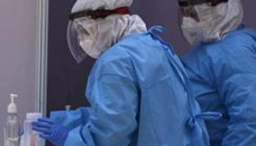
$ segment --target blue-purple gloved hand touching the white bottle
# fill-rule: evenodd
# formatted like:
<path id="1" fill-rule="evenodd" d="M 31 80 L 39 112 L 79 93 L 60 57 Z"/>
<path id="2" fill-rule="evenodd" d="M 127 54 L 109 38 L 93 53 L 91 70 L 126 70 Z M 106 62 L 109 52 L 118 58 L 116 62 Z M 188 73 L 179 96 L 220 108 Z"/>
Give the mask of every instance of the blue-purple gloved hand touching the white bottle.
<path id="1" fill-rule="evenodd" d="M 55 124 L 49 118 L 40 118 L 32 123 L 33 130 L 41 133 L 39 137 L 49 140 L 55 146 L 63 146 L 69 130 L 59 124 Z"/>

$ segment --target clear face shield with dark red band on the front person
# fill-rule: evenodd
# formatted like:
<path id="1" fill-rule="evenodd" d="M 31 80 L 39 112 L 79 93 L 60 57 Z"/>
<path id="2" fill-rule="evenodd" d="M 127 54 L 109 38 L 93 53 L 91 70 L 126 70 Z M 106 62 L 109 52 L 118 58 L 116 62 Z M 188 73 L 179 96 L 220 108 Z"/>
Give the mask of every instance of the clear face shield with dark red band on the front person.
<path id="1" fill-rule="evenodd" d="M 80 63 L 87 56 L 92 58 L 98 57 L 95 47 L 97 42 L 97 27 L 100 21 L 112 14 L 128 14 L 127 7 L 121 7 L 115 10 L 97 10 L 97 11 L 80 11 L 69 15 L 69 24 L 67 27 L 67 43 L 69 50 L 76 62 Z M 99 43 L 99 42 L 98 42 Z M 94 49 L 94 51 L 93 51 Z"/>

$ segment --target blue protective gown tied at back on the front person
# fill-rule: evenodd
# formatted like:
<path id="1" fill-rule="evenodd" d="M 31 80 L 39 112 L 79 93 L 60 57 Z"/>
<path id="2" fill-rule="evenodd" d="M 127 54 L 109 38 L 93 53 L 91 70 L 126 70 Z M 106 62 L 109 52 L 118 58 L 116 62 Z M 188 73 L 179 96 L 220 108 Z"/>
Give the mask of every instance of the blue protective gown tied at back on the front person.
<path id="1" fill-rule="evenodd" d="M 129 36 L 98 58 L 87 84 L 91 108 L 52 112 L 72 129 L 65 146 L 208 146 L 184 68 L 153 31 Z"/>

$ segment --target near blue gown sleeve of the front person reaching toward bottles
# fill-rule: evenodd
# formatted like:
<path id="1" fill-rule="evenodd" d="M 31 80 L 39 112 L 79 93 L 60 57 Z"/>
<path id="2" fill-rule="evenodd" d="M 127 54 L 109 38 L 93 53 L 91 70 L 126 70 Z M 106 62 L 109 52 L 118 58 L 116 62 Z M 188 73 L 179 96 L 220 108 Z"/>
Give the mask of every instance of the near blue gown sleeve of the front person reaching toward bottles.
<path id="1" fill-rule="evenodd" d="M 69 132 L 64 146 L 128 146 L 137 129 L 139 91 L 126 59 L 98 62 L 89 77 L 91 115 Z"/>

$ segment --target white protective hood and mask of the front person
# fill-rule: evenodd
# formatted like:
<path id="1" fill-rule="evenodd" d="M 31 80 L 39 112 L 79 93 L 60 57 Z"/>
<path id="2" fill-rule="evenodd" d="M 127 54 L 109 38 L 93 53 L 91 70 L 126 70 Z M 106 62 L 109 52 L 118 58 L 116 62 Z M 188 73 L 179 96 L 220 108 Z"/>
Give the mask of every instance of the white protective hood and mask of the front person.
<path id="1" fill-rule="evenodd" d="M 77 0 L 72 8 L 72 13 L 97 9 L 113 10 L 124 6 L 129 7 L 131 4 L 132 0 Z M 126 36 L 147 30 L 144 21 L 138 15 L 119 14 L 109 15 L 104 19 L 81 17 L 74 19 L 69 27 L 76 30 L 79 46 L 85 54 L 92 58 L 98 58 L 106 49 Z M 68 41 L 70 42 L 70 40 Z M 71 52 L 80 52 L 81 54 L 81 51 L 75 50 L 76 48 L 72 48 L 72 46 L 69 46 L 69 48 Z M 74 56 L 78 53 L 72 54 Z M 81 55 L 78 54 L 78 56 Z M 78 62 L 84 59 L 78 58 Z"/>

